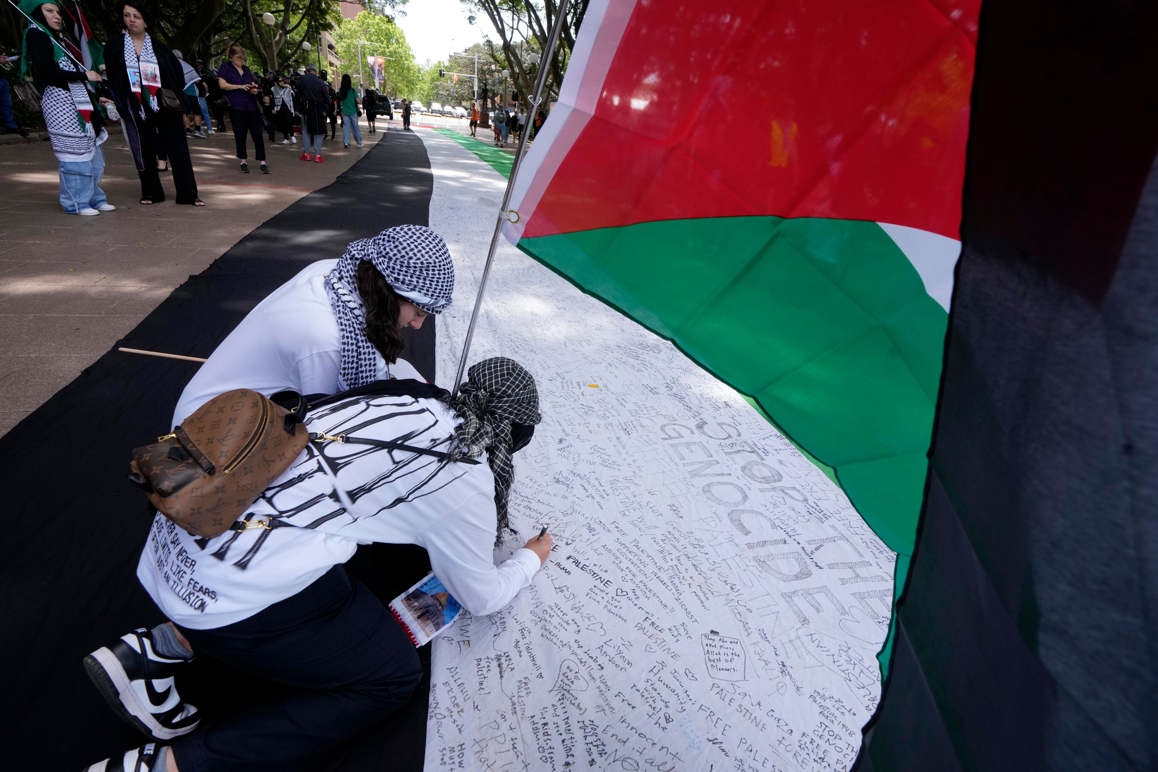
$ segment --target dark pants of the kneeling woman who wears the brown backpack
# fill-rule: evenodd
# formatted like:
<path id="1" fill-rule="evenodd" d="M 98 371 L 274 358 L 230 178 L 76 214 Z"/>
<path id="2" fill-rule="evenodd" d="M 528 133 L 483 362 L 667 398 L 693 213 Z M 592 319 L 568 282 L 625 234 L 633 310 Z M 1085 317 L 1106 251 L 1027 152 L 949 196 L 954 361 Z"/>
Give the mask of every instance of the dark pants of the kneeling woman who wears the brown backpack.
<path id="1" fill-rule="evenodd" d="M 343 566 L 249 619 L 182 633 L 195 652 L 290 689 L 178 740 L 181 772 L 291 769 L 405 705 L 423 675 L 398 623 Z"/>

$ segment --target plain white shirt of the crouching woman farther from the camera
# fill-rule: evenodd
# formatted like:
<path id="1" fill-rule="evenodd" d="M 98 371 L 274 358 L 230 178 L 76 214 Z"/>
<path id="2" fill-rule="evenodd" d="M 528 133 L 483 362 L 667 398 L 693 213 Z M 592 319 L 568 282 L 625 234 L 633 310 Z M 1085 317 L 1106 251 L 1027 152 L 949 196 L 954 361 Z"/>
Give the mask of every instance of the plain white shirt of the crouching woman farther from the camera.
<path id="1" fill-rule="evenodd" d="M 185 385 L 173 411 L 173 425 L 232 389 L 252 389 L 266 397 L 278 391 L 342 391 L 342 338 L 324 285 L 337 263 L 318 260 L 306 266 L 258 303 Z M 391 374 L 425 380 L 405 360 L 387 365 L 375 353 L 375 361 L 380 380 Z"/>

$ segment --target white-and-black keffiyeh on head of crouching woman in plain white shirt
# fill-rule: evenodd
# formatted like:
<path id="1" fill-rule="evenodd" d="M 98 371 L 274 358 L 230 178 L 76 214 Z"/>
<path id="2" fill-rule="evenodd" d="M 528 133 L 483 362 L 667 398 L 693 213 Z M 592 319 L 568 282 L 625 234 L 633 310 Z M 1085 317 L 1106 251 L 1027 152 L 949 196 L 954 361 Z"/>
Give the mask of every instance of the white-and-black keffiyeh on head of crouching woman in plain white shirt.
<path id="1" fill-rule="evenodd" d="M 442 237 L 423 226 L 398 226 L 373 238 L 350 242 L 325 279 L 334 316 L 342 334 L 342 389 L 374 381 L 378 350 L 366 338 L 366 318 L 358 296 L 358 265 L 379 270 L 386 282 L 427 314 L 441 314 L 454 300 L 454 263 Z"/>

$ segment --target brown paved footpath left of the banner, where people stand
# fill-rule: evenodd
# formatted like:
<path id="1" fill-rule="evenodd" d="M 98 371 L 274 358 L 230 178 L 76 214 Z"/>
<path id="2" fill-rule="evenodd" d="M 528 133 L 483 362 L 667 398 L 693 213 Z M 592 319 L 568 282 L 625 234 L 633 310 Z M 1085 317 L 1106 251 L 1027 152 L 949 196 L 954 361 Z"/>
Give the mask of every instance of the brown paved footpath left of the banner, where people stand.
<path id="1" fill-rule="evenodd" d="M 325 140 L 325 163 L 299 160 L 301 145 L 266 142 L 272 174 L 252 160 L 243 175 L 232 133 L 190 139 L 204 207 L 141 205 L 140 182 L 119 133 L 104 144 L 102 188 L 118 208 L 81 218 L 60 212 L 57 160 L 47 142 L 0 146 L 0 435 L 132 330 L 190 274 L 254 228 L 365 155 Z M 401 130 L 394 122 L 390 131 Z M 280 137 L 280 135 L 279 135 Z M 300 142 L 300 140 L 299 140 Z M 127 355 L 127 354 L 126 354 Z"/>

